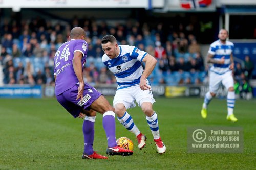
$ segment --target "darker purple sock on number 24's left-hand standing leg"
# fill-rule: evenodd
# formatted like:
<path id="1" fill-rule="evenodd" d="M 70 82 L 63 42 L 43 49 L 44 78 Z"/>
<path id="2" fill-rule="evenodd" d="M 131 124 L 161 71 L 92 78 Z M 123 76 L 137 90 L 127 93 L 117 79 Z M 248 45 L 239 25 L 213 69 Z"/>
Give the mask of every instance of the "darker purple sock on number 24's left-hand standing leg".
<path id="1" fill-rule="evenodd" d="M 84 137 L 84 151 L 86 155 L 93 154 L 93 140 L 94 140 L 94 123 L 95 116 L 86 116 L 82 124 L 82 132 Z"/>

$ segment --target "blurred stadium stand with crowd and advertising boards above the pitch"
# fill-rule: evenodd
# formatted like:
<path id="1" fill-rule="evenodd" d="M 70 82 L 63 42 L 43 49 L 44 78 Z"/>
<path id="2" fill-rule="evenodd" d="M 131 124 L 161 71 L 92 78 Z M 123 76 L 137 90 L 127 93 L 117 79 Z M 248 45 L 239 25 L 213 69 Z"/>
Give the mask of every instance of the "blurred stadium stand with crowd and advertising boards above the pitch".
<path id="1" fill-rule="evenodd" d="M 86 82 L 115 94 L 115 77 L 101 62 L 101 38 L 112 34 L 157 58 L 150 81 L 165 97 L 204 96 L 209 44 L 226 28 L 235 45 L 237 98 L 255 98 L 255 20 L 253 0 L 0 0 L 0 98 L 54 96 L 54 54 L 75 26 L 90 43 Z"/>

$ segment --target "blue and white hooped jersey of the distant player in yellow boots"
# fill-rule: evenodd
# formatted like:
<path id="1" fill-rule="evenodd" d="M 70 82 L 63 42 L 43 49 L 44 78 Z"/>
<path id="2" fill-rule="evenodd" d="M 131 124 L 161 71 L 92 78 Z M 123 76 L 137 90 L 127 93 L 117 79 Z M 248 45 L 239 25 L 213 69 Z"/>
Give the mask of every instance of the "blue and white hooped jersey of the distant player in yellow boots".
<path id="1" fill-rule="evenodd" d="M 225 72 L 229 71 L 230 55 L 232 54 L 233 50 L 234 44 L 230 41 L 226 41 L 226 44 L 223 44 L 220 42 L 220 40 L 217 40 L 210 44 L 208 53 L 214 55 L 214 57 L 212 57 L 213 59 L 218 61 L 223 56 L 225 57 L 224 64 L 214 64 L 210 68 L 210 71 L 217 74 L 224 74 Z"/>

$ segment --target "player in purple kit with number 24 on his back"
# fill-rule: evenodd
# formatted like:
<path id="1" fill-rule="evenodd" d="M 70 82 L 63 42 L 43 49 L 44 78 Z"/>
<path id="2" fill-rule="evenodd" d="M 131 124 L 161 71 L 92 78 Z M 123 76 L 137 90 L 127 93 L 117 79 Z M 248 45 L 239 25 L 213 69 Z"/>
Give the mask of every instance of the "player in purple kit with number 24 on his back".
<path id="1" fill-rule="evenodd" d="M 117 146 L 115 137 L 115 109 L 95 88 L 83 81 L 83 65 L 86 62 L 88 43 L 86 32 L 75 27 L 70 40 L 63 43 L 54 57 L 55 95 L 58 102 L 71 114 L 84 118 L 83 159 L 108 159 L 93 150 L 96 112 L 103 115 L 103 128 L 108 140 L 108 155 L 132 155 L 133 151 Z"/>

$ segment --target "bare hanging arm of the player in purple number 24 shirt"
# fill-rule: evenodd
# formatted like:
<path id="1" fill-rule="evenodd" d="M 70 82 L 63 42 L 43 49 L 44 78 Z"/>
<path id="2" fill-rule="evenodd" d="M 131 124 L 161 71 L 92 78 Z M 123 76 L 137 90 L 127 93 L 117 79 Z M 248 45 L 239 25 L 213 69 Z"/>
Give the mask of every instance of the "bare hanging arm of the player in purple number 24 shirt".
<path id="1" fill-rule="evenodd" d="M 79 98 L 82 100 L 82 95 L 83 95 L 83 88 L 84 88 L 84 81 L 83 81 L 83 76 L 82 76 L 82 53 L 81 52 L 75 52 L 74 53 L 74 58 L 72 60 L 73 62 L 73 68 L 76 74 L 76 77 L 79 81 L 79 87 L 78 87 L 78 92 L 77 92 L 77 98 L 76 100 L 78 100 Z"/>

